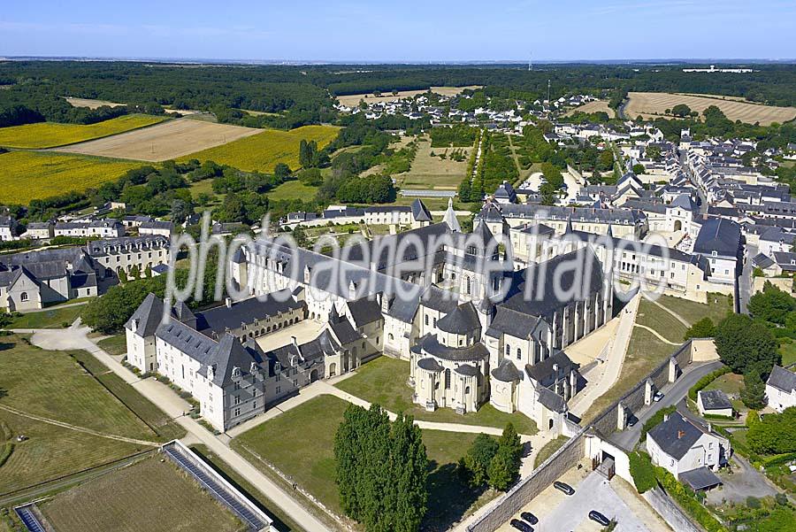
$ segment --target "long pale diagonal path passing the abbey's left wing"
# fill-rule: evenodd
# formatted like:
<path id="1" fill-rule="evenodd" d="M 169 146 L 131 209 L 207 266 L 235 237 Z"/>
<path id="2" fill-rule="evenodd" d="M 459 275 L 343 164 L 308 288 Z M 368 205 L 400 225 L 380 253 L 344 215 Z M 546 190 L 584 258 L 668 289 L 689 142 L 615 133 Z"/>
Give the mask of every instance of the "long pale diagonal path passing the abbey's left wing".
<path id="1" fill-rule="evenodd" d="M 88 328 L 73 325 L 65 329 L 38 329 L 33 331 L 31 343 L 44 349 L 69 350 L 83 349 L 91 352 L 105 366 L 108 366 L 113 373 L 118 374 L 125 382 L 128 382 L 137 389 L 142 396 L 157 405 L 161 410 L 172 417 L 182 428 L 188 431 L 185 440 L 190 443 L 203 443 L 218 458 L 224 460 L 231 466 L 236 473 L 256 486 L 258 490 L 269 497 L 273 503 L 287 513 L 287 515 L 299 523 L 307 532 L 327 532 L 330 528 L 326 527 L 318 518 L 308 512 L 294 497 L 281 486 L 265 476 L 249 461 L 242 458 L 240 454 L 233 451 L 224 441 L 213 436 L 206 428 L 185 415 L 188 403 L 180 399 L 172 389 L 149 378 L 141 380 L 138 375 L 122 366 L 119 361 L 111 357 L 107 352 L 99 348 L 95 343 L 88 339 Z"/>

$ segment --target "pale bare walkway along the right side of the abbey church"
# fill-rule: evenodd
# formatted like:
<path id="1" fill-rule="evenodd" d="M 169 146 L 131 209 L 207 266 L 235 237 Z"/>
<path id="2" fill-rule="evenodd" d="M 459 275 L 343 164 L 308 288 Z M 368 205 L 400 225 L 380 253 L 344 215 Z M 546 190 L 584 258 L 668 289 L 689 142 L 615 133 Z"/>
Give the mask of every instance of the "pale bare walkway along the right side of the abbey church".
<path id="1" fill-rule="evenodd" d="M 619 317 L 620 321 L 619 326 L 616 328 L 616 335 L 611 340 L 608 349 L 608 359 L 599 366 L 601 371 L 598 373 L 598 368 L 594 368 L 589 374 L 592 377 L 592 381 L 588 382 L 586 389 L 581 390 L 570 401 L 570 412 L 576 416 L 583 417 L 583 414 L 586 413 L 593 402 L 607 392 L 608 389 L 611 389 L 619 379 L 619 374 L 622 373 L 624 364 L 624 356 L 627 354 L 627 346 L 630 343 L 633 324 L 636 321 L 636 312 L 639 311 L 640 298 L 641 296 L 637 295 L 624 306 Z"/>

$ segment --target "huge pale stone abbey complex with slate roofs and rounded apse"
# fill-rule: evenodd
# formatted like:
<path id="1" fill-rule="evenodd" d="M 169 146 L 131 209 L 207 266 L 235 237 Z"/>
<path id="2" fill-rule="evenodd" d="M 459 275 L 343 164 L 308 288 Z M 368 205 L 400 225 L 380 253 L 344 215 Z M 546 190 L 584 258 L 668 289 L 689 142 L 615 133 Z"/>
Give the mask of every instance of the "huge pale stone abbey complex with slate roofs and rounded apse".
<path id="1" fill-rule="evenodd" d="M 193 314 L 150 295 L 127 323 L 128 361 L 188 390 L 218 430 L 381 355 L 409 360 L 401 378 L 427 410 L 488 402 L 554 427 L 583 386 L 562 349 L 610 319 L 610 276 L 588 246 L 515 263 L 508 225 L 463 233 L 450 205 L 428 219 L 345 260 L 259 239 L 230 258 L 253 297 Z M 306 320 L 317 337 L 272 348 L 270 335 Z"/>

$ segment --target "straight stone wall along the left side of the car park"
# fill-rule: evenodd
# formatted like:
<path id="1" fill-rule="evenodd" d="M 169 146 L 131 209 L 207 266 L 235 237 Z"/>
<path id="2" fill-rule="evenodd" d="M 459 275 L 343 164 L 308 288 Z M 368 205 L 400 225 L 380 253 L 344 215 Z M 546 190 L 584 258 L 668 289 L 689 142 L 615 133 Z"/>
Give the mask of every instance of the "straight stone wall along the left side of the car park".
<path id="1" fill-rule="evenodd" d="M 567 443 L 537 467 L 532 474 L 517 482 L 511 490 L 494 502 L 491 510 L 481 515 L 467 527 L 469 532 L 493 532 L 539 495 L 558 477 L 574 467 L 585 456 L 584 430 L 572 436 Z"/>

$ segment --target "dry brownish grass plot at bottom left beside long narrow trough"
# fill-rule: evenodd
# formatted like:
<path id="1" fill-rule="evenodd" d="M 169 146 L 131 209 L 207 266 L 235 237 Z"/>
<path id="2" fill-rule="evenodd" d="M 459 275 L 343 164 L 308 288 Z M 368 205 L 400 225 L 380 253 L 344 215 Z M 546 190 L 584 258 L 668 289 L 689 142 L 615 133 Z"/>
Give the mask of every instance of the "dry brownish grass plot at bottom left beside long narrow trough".
<path id="1" fill-rule="evenodd" d="M 144 459 L 59 493 L 42 511 L 58 532 L 235 532 L 225 506 L 169 461 Z"/>

